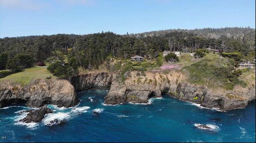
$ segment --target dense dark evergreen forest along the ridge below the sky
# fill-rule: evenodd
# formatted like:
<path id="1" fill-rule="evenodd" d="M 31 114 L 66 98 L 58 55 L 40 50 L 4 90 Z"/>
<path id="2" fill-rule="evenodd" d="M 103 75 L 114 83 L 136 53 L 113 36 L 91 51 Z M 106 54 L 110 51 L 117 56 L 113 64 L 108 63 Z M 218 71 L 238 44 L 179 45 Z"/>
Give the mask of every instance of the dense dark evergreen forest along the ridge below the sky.
<path id="1" fill-rule="evenodd" d="M 22 53 L 40 62 L 53 56 L 54 51 L 68 53 L 78 66 L 97 68 L 108 56 L 130 58 L 135 55 L 155 58 L 158 52 L 195 52 L 196 49 L 213 48 L 221 52 L 255 53 L 255 29 L 205 28 L 195 30 L 163 30 L 140 34 L 118 35 L 101 32 L 88 35 L 57 34 L 0 39 L 0 54 L 7 53 L 12 60 Z M 16 56 L 17 57 L 17 56 Z"/>

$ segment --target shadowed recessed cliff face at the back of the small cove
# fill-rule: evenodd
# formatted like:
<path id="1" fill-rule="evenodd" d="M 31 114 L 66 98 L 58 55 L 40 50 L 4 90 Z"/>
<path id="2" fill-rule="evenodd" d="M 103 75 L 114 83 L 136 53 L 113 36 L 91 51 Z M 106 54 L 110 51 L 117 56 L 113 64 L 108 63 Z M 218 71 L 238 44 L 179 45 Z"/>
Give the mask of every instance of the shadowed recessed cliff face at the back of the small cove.
<path id="1" fill-rule="evenodd" d="M 88 89 L 109 89 L 112 83 L 112 74 L 107 72 L 88 73 L 75 76 L 71 84 L 76 91 Z"/>

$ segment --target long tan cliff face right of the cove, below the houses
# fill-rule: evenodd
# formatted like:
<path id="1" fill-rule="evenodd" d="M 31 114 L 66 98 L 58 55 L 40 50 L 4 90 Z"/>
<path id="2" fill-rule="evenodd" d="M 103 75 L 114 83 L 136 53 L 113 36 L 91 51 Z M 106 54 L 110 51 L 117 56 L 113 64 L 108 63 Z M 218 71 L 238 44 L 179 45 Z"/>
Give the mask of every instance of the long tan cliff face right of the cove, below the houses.
<path id="1" fill-rule="evenodd" d="M 124 83 L 113 80 L 105 104 L 147 103 L 150 97 L 162 97 L 161 93 L 204 107 L 230 110 L 243 108 L 255 100 L 255 84 L 249 83 L 246 88 L 236 86 L 231 91 L 213 90 L 203 85 L 189 84 L 181 72 L 148 72 L 146 76 L 136 76 L 132 72 Z"/>

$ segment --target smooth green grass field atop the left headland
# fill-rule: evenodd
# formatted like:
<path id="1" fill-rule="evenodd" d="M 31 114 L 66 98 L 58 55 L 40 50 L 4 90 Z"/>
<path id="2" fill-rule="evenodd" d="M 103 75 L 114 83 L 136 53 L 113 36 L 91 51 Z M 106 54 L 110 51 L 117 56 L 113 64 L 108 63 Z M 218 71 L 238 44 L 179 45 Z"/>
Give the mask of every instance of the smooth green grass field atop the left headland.
<path id="1" fill-rule="evenodd" d="M 56 78 L 47 71 L 46 67 L 31 67 L 27 70 L 20 71 L 18 73 L 11 74 L 5 78 L 0 78 L 1 81 L 9 81 L 11 83 L 19 83 L 22 85 L 29 84 L 34 79 L 46 79 L 46 77 L 51 76 Z"/>

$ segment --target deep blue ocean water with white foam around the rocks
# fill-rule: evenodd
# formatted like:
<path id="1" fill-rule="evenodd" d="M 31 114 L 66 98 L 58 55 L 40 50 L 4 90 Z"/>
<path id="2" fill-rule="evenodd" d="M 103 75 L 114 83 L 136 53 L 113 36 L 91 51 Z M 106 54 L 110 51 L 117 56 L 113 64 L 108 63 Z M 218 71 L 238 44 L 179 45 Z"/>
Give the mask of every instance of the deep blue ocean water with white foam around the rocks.
<path id="1" fill-rule="evenodd" d="M 22 124 L 22 104 L 0 109 L 0 142 L 255 142 L 255 102 L 219 112 L 163 95 L 149 104 L 104 105 L 107 91 L 78 93 L 74 108 L 48 105 L 41 123 Z M 47 125 L 58 118 L 64 123 Z M 202 130 L 197 124 L 209 124 Z"/>

